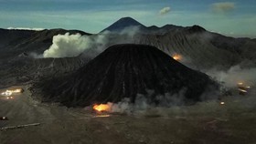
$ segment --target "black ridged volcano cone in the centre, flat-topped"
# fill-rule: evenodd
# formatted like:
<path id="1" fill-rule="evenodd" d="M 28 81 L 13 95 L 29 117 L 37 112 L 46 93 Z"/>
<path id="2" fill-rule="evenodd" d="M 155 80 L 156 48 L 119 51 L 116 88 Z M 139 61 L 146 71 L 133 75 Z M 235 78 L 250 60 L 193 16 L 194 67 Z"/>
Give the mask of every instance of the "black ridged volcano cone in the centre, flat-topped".
<path id="1" fill-rule="evenodd" d="M 156 96 L 172 96 L 184 89 L 186 102 L 195 102 L 209 85 L 217 87 L 207 75 L 183 66 L 155 46 L 127 44 L 111 46 L 71 76 L 45 80 L 34 88 L 42 90 L 43 101 L 83 107 L 123 98 L 134 102 L 137 94 L 157 104 Z M 154 95 L 147 95 L 148 89 Z"/>

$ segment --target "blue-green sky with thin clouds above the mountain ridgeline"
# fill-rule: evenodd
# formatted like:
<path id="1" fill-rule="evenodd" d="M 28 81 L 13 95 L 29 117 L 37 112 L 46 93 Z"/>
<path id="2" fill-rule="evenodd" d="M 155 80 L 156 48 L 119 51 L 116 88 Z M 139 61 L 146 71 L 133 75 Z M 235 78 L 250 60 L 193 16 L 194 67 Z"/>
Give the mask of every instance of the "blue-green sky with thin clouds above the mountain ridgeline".
<path id="1" fill-rule="evenodd" d="M 256 0 L 0 0 L 0 27 L 80 29 L 98 33 L 123 16 L 145 26 L 203 26 L 256 37 Z"/>

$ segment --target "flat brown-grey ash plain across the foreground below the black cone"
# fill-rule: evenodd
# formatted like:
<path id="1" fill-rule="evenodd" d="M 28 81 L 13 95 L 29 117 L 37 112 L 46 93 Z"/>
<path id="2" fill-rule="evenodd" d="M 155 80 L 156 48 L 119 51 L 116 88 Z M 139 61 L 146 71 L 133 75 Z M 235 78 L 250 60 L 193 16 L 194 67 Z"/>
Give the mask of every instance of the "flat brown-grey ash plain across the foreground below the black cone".
<path id="1" fill-rule="evenodd" d="M 0 128 L 41 125 L 0 131 L 1 144 L 256 143 L 256 108 L 241 107 L 255 98 L 97 118 L 89 110 L 37 103 L 27 90 L 14 97 L 0 99 L 0 117 L 9 118 Z"/>

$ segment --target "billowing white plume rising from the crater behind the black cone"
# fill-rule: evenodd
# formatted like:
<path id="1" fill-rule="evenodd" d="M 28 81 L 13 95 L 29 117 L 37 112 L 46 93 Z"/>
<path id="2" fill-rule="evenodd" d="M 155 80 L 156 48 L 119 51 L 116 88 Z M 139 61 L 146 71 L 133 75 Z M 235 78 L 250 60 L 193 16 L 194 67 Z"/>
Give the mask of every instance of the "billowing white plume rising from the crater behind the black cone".
<path id="1" fill-rule="evenodd" d="M 118 33 L 104 31 L 92 36 L 69 35 L 69 33 L 53 36 L 52 45 L 44 51 L 43 57 L 77 57 L 81 53 L 86 57 L 96 57 L 108 46 L 133 43 L 133 36 L 139 30 L 138 26 L 131 26 Z"/>

